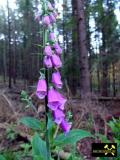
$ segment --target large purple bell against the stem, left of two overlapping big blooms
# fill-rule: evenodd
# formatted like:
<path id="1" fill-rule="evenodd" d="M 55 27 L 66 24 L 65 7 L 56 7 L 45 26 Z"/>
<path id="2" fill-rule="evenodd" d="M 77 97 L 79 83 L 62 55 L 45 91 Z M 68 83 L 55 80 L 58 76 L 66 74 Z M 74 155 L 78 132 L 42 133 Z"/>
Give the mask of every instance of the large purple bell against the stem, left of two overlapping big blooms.
<path id="1" fill-rule="evenodd" d="M 54 88 L 50 88 L 48 91 L 48 107 L 51 110 L 56 110 L 58 105 L 60 105 L 58 92 Z"/>

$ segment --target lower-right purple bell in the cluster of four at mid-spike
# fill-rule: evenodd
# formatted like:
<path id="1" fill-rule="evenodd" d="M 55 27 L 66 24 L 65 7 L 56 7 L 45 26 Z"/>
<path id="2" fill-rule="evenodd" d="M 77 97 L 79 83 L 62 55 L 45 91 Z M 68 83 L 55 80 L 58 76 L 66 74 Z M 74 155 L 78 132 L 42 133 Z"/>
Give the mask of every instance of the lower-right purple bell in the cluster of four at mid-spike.
<path id="1" fill-rule="evenodd" d="M 60 68 L 62 66 L 62 62 L 60 60 L 60 57 L 56 54 L 52 55 L 52 64 L 55 68 Z"/>

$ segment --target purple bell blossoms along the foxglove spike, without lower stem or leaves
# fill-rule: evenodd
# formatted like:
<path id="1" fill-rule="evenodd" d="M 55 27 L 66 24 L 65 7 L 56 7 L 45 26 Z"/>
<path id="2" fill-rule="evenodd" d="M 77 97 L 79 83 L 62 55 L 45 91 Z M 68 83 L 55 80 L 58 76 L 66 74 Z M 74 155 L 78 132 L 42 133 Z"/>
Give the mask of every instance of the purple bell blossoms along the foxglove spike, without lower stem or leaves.
<path id="1" fill-rule="evenodd" d="M 43 26 L 45 29 L 45 32 L 47 33 L 50 31 L 50 26 L 52 26 L 56 22 L 57 13 L 54 11 L 53 5 L 50 2 L 45 2 L 45 15 L 43 15 Z M 48 15 L 47 15 L 47 14 Z M 45 34 L 46 34 L 45 33 Z M 46 36 L 46 35 L 44 35 Z M 48 39 L 45 40 L 45 48 L 44 48 L 44 58 L 43 63 L 48 70 L 49 68 L 53 68 L 54 71 L 52 73 L 52 84 L 55 87 L 46 88 L 44 90 L 44 81 L 39 80 L 36 94 L 38 95 L 38 98 L 47 97 L 47 107 L 53 112 L 53 118 L 55 123 L 59 124 L 62 128 L 62 130 L 67 133 L 69 132 L 71 125 L 66 122 L 65 115 L 63 113 L 64 105 L 66 102 L 66 99 L 56 90 L 56 88 L 61 89 L 62 88 L 62 81 L 61 81 L 61 75 L 58 71 L 58 68 L 62 67 L 62 62 L 60 55 L 62 54 L 62 49 L 59 46 L 58 42 L 55 41 L 55 34 L 53 31 L 50 31 L 49 35 L 47 35 Z M 48 44 L 48 40 L 55 41 L 53 45 Z M 43 84 L 42 84 L 42 83 Z M 47 82 L 49 83 L 49 82 Z M 41 85 L 41 86 L 40 86 Z M 47 85 L 48 86 L 48 85 Z M 49 86 L 48 86 L 49 87 Z M 46 95 L 47 92 L 47 95 Z M 48 109 L 47 109 L 48 110 Z"/>

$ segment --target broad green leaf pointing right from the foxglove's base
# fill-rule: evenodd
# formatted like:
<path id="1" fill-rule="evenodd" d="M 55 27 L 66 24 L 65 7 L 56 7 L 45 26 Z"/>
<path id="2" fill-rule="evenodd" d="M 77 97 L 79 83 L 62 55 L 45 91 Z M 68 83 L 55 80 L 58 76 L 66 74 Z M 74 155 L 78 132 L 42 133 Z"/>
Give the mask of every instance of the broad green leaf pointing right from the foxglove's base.
<path id="1" fill-rule="evenodd" d="M 78 140 L 86 137 L 93 137 L 90 132 L 81 129 L 73 129 L 67 135 L 60 134 L 54 140 L 56 146 L 64 146 L 68 144 L 75 144 Z"/>

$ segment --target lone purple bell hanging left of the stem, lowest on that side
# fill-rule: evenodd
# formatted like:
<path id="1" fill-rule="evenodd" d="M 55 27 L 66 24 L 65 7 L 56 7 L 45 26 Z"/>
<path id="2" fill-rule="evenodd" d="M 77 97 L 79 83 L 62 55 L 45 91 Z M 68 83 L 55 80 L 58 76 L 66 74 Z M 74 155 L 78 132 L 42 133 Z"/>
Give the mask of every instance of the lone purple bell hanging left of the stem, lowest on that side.
<path id="1" fill-rule="evenodd" d="M 39 99 L 43 99 L 47 95 L 47 84 L 45 79 L 39 79 L 37 84 L 36 95 Z"/>

